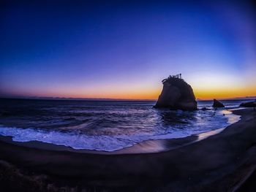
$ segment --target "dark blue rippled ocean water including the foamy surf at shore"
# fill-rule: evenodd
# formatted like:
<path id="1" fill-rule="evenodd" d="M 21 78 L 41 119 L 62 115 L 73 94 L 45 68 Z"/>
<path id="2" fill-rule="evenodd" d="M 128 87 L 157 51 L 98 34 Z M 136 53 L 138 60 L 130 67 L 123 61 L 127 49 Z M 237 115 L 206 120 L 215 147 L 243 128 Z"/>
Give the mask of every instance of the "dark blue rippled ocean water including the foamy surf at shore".
<path id="1" fill-rule="evenodd" d="M 156 101 L 0 99 L 0 135 L 74 149 L 114 151 L 149 139 L 170 139 L 225 128 L 239 120 L 241 100 L 198 101 L 194 112 L 159 110 Z M 207 107 L 209 110 L 200 110 Z"/>

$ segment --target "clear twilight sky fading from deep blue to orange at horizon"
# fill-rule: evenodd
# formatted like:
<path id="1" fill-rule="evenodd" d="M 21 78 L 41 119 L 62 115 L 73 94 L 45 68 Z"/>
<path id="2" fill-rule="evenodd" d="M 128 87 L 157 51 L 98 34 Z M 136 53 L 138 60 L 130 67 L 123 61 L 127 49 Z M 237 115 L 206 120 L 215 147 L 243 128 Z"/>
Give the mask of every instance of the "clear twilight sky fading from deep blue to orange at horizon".
<path id="1" fill-rule="evenodd" d="M 256 96 L 252 1 L 1 1 L 0 96 Z"/>

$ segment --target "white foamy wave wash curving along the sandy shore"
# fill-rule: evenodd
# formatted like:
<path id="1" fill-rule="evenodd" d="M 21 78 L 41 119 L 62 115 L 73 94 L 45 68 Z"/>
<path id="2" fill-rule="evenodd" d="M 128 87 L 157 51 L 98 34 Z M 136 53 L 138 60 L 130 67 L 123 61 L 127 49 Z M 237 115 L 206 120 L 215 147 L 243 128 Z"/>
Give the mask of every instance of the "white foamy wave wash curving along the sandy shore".
<path id="1" fill-rule="evenodd" d="M 201 128 L 200 124 L 193 128 L 183 128 L 170 133 L 154 133 L 154 134 L 134 134 L 134 135 L 86 135 L 75 131 L 56 131 L 43 130 L 39 128 L 16 128 L 0 126 L 0 134 L 10 136 L 15 142 L 39 141 L 55 145 L 64 145 L 72 147 L 76 150 L 104 150 L 114 151 L 124 147 L 135 145 L 135 143 L 143 142 L 149 139 L 171 139 L 187 137 L 192 134 L 200 134 L 207 131 L 215 130 L 216 128 L 224 128 L 225 126 L 236 123 L 239 120 L 238 115 L 233 115 L 230 112 L 222 112 L 225 114 L 225 123 L 217 121 L 211 122 L 208 127 Z"/>

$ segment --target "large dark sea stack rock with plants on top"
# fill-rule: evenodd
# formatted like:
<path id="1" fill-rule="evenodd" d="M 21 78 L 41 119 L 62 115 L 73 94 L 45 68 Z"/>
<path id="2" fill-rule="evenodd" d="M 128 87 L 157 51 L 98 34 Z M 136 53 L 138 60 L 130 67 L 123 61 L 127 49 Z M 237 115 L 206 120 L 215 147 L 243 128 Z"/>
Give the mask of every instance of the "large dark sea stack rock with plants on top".
<path id="1" fill-rule="evenodd" d="M 170 110 L 197 110 L 194 92 L 189 84 L 181 78 L 181 74 L 170 75 L 162 80 L 163 88 L 156 108 Z"/>

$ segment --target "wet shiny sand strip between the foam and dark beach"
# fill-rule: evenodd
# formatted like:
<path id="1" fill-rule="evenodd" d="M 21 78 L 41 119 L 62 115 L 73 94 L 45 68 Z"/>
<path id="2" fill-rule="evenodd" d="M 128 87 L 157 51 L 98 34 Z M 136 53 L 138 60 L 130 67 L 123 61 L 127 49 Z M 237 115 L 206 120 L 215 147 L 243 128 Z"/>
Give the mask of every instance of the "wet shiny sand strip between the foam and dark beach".
<path id="1" fill-rule="evenodd" d="M 231 109 L 227 110 L 230 112 L 241 110 L 241 109 Z M 238 115 L 239 120 L 241 119 Z M 239 121 L 238 120 L 238 121 Z M 236 123 L 236 122 L 235 122 Z M 229 126 L 231 126 L 231 123 Z M 7 142 L 12 145 L 18 145 L 23 147 L 31 147 L 38 150 L 54 150 L 54 151 L 69 151 L 73 153 L 91 153 L 91 154 L 102 154 L 102 155 L 116 155 L 116 154 L 140 154 L 140 153 L 162 153 L 170 150 L 175 150 L 179 147 L 184 147 L 190 145 L 194 142 L 200 142 L 203 139 L 207 139 L 215 134 L 219 134 L 221 131 L 225 130 L 228 126 L 224 128 L 217 128 L 212 131 L 202 132 L 199 134 L 192 134 L 187 137 L 180 138 L 170 138 L 170 139 L 148 139 L 142 142 L 138 142 L 135 145 L 124 147 L 120 150 L 114 151 L 104 151 L 104 150 L 87 150 L 87 149 L 74 149 L 66 145 L 57 145 L 48 142 L 41 141 L 29 141 L 29 142 L 18 142 L 13 141 L 12 136 L 0 135 L 0 142 Z"/>

